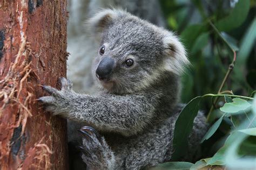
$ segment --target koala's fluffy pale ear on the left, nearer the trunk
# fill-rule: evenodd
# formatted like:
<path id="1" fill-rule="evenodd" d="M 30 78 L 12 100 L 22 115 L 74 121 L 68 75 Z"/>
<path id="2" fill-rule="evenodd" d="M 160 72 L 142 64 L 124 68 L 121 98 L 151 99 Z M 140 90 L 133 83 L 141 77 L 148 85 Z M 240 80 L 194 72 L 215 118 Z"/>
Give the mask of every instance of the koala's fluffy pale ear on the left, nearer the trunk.
<path id="1" fill-rule="evenodd" d="M 96 13 L 95 16 L 86 21 L 87 31 L 96 38 L 102 37 L 102 32 L 109 26 L 122 11 L 106 9 Z"/>

